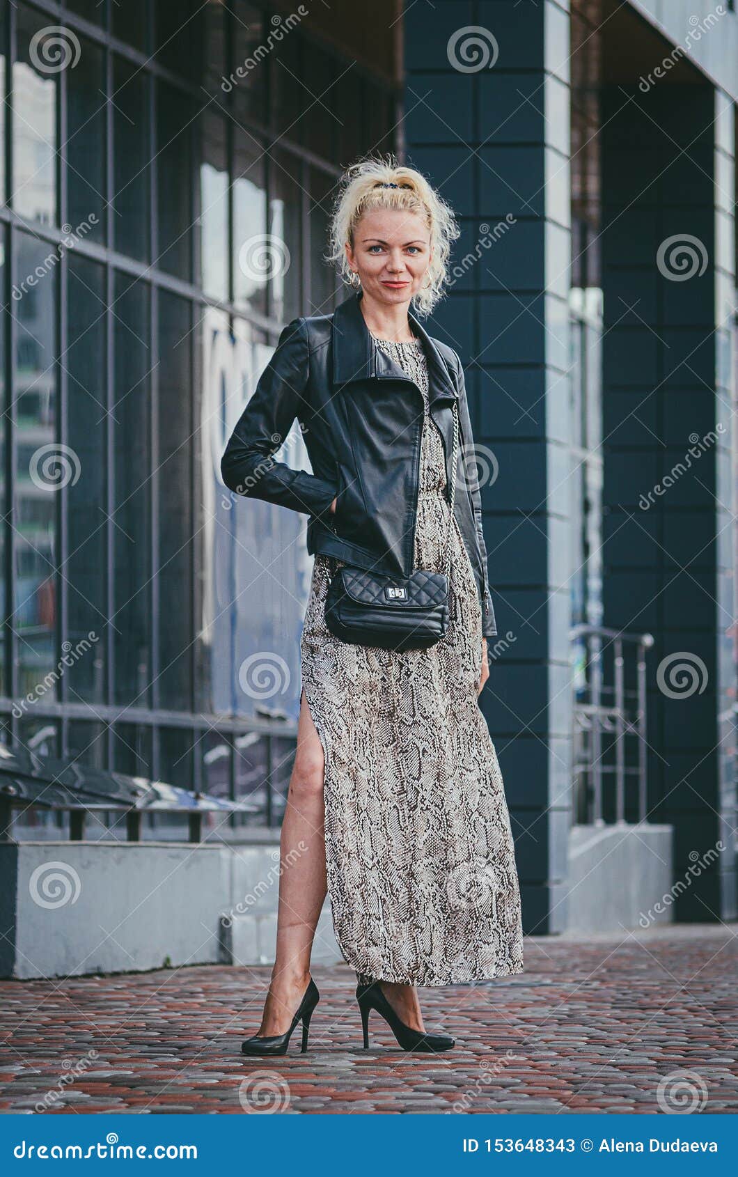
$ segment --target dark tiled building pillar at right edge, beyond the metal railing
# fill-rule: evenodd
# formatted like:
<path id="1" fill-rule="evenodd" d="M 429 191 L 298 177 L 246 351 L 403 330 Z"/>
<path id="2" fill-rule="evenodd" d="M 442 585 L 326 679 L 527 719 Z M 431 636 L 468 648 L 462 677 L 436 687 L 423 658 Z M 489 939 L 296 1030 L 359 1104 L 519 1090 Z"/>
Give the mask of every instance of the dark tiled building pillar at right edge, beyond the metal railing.
<path id="1" fill-rule="evenodd" d="M 734 917 L 732 104 L 603 92 L 605 621 L 649 630 L 649 817 L 674 918 Z M 720 846 L 723 849 L 720 849 Z"/>

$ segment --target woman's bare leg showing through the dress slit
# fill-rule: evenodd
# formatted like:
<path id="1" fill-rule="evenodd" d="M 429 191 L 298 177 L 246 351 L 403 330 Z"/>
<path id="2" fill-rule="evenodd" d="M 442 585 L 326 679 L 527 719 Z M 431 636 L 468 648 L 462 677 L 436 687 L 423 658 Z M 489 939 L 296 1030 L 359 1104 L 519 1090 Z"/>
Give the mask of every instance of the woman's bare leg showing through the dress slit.
<path id="1" fill-rule="evenodd" d="M 280 837 L 277 956 L 258 1035 L 284 1033 L 310 982 L 310 953 L 326 896 L 324 757 L 307 699 Z"/>

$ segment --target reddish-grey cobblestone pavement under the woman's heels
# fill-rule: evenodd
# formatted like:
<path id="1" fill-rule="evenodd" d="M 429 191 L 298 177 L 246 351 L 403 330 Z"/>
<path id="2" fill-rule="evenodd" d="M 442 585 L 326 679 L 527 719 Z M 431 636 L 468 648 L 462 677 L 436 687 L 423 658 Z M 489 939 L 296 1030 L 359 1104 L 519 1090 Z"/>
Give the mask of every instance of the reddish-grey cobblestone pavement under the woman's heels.
<path id="1" fill-rule="evenodd" d="M 421 992 L 447 1055 L 406 1055 L 354 975 L 317 967 L 307 1055 L 244 1058 L 271 969 L 0 982 L 8 1112 L 736 1112 L 736 927 L 526 942 L 525 972 Z M 684 1072 L 687 1072 L 686 1075 Z M 660 1085 L 660 1090 L 659 1090 Z"/>

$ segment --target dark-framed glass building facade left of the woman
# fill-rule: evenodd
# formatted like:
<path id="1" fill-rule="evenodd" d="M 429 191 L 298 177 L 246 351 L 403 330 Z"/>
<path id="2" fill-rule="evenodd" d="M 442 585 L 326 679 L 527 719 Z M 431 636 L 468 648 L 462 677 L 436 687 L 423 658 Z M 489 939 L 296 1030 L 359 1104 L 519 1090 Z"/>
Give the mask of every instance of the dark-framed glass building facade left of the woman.
<path id="1" fill-rule="evenodd" d="M 333 310 L 335 179 L 394 147 L 391 86 L 241 0 L 2 0 L 0 38 L 2 739 L 273 822 L 305 519 L 220 454 L 285 322 Z"/>

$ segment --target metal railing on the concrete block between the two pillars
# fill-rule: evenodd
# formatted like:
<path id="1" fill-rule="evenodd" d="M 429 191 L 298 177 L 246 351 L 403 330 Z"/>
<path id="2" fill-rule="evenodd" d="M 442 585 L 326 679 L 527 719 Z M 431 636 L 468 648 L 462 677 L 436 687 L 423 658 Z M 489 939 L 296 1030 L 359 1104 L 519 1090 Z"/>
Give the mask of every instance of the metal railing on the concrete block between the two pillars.
<path id="1" fill-rule="evenodd" d="M 577 625 L 574 657 L 574 822 L 645 822 L 647 813 L 646 651 L 650 633 Z M 605 789 L 605 782 L 614 789 Z M 636 789 L 629 789 L 634 780 Z"/>

